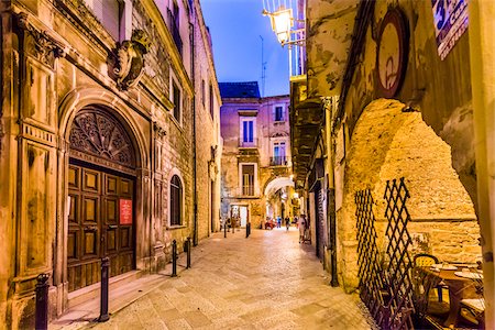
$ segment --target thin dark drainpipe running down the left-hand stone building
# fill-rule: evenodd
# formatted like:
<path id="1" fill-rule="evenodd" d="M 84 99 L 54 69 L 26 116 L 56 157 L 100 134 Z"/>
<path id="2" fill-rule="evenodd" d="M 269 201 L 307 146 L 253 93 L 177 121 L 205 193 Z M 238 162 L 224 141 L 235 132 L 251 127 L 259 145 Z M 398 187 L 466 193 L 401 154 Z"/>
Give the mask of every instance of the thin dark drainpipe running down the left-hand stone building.
<path id="1" fill-rule="evenodd" d="M 191 31 L 190 36 L 190 48 L 191 54 L 196 53 L 195 47 L 195 25 L 194 23 L 189 23 L 189 28 Z M 193 187 L 193 199 L 194 199 L 194 212 L 195 212 L 195 219 L 194 219 L 194 231 L 193 231 L 193 245 L 198 245 L 198 193 L 197 193 L 197 158 L 196 158 L 196 70 L 195 70 L 195 63 L 196 63 L 196 56 L 193 55 L 191 58 L 191 77 L 193 77 L 193 86 L 195 88 L 195 92 L 193 95 L 193 177 L 194 177 L 194 187 Z"/>

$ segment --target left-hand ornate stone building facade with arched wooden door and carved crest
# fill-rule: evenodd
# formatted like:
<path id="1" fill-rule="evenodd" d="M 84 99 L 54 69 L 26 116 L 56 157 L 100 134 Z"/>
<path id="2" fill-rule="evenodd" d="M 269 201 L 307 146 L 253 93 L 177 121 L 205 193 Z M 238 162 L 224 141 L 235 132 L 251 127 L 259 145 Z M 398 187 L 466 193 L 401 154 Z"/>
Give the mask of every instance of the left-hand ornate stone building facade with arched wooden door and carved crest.
<path id="1" fill-rule="evenodd" d="M 32 328 L 40 274 L 55 319 L 98 290 L 101 257 L 132 280 L 215 228 L 219 187 L 195 185 L 219 182 L 220 98 L 199 1 L 0 9 L 0 324 Z"/>

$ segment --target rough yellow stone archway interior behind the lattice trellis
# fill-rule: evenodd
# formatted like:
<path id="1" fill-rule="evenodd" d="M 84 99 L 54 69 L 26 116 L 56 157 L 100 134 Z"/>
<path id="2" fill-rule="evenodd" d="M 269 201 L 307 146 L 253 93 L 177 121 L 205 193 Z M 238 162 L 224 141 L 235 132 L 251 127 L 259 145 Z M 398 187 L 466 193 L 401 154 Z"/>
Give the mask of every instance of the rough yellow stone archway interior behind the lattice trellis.
<path id="1" fill-rule="evenodd" d="M 386 182 L 405 177 L 410 199 L 408 224 L 419 250 L 443 261 L 473 262 L 481 254 L 472 200 L 452 168 L 450 146 L 420 112 L 403 112 L 397 100 L 378 99 L 362 112 L 351 136 L 345 164 L 339 249 L 346 286 L 358 285 L 354 194 L 370 188 L 375 206 L 378 248 L 384 249 Z"/>

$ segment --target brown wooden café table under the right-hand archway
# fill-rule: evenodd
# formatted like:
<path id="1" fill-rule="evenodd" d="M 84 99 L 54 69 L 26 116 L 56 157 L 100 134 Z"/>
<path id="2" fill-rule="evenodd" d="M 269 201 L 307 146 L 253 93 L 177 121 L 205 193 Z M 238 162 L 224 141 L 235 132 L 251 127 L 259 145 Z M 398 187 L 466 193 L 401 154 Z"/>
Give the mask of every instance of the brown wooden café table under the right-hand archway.
<path id="1" fill-rule="evenodd" d="M 464 267 L 466 266 L 464 265 Z M 443 326 L 448 328 L 457 326 L 462 299 L 479 298 L 474 280 L 454 274 L 455 272 L 462 272 L 462 270 L 463 266 L 458 266 L 458 270 L 455 271 L 440 270 L 440 272 L 435 272 L 430 267 L 424 268 L 426 273 L 436 277 L 437 284 L 443 280 L 443 283 L 449 286 L 450 309 L 449 316 L 443 322 Z"/>

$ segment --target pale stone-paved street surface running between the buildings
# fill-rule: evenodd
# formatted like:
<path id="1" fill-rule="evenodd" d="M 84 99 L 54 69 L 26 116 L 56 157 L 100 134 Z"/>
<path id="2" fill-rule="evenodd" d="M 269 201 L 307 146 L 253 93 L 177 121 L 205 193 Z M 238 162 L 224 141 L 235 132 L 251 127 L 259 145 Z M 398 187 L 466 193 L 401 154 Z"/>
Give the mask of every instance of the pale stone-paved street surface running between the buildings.
<path id="1" fill-rule="evenodd" d="M 98 329 L 373 329 L 356 295 L 328 285 L 310 245 L 292 228 L 216 233 L 193 267 L 165 277 Z M 182 260 L 180 263 L 184 264 Z"/>

